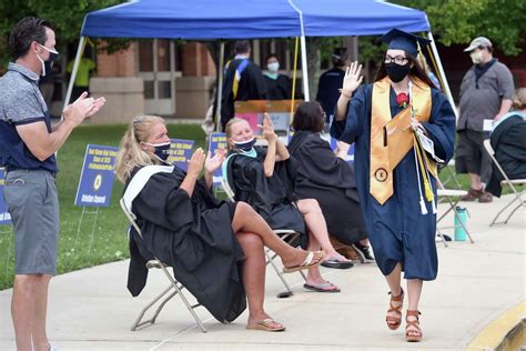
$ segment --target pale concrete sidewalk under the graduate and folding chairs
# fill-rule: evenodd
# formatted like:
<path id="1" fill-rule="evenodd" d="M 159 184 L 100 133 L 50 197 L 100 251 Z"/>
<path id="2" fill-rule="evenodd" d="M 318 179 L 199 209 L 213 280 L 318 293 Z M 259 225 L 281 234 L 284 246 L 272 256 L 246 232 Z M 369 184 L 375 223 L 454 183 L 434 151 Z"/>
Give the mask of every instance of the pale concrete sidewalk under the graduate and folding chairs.
<path id="1" fill-rule="evenodd" d="M 162 272 L 151 272 L 146 289 L 132 299 L 125 289 L 128 261 L 85 269 L 53 279 L 48 333 L 60 350 L 462 350 L 493 320 L 525 299 L 525 217 L 489 228 L 493 215 L 509 195 L 494 203 L 464 203 L 475 243 L 437 243 L 438 279 L 424 283 L 421 303 L 424 340 L 404 341 L 404 328 L 385 325 L 387 287 L 374 264 L 341 271 L 323 269 L 341 293 L 307 292 L 301 275 L 287 274 L 295 294 L 283 290 L 267 269 L 267 312 L 287 329 L 282 333 L 245 330 L 246 312 L 221 324 L 198 309 L 209 330 L 201 333 L 179 299 L 170 301 L 158 322 L 131 332 L 142 307 L 168 284 Z M 446 209 L 439 205 L 439 212 Z M 451 225 L 449 214 L 441 224 Z M 451 233 L 451 230 L 446 232 Z M 0 292 L 0 350 L 14 350 L 10 320 L 11 290 Z M 523 313 L 524 315 L 524 313 Z"/>

